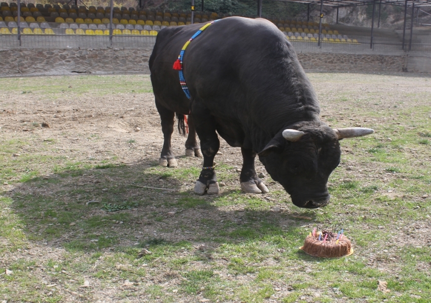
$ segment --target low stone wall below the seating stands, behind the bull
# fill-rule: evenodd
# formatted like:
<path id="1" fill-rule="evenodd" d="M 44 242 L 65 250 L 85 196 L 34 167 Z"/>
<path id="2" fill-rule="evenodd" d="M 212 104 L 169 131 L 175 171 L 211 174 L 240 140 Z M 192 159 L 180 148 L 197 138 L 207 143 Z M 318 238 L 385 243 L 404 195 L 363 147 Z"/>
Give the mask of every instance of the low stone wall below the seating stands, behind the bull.
<path id="1" fill-rule="evenodd" d="M 144 49 L 0 50 L 0 77 L 54 74 L 149 73 L 152 47 Z M 306 70 L 350 72 L 408 71 L 407 55 L 298 53 Z M 416 64 L 417 66 L 417 64 Z M 418 70 L 415 72 L 431 72 Z"/>

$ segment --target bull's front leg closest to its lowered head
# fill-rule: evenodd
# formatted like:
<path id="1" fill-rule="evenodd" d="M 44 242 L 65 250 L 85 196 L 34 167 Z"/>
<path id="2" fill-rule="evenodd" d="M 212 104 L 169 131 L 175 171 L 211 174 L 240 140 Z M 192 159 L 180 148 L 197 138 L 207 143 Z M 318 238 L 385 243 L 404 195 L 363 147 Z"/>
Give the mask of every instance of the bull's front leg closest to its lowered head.
<path id="1" fill-rule="evenodd" d="M 268 188 L 258 178 L 255 170 L 255 158 L 256 153 L 253 149 L 241 147 L 242 153 L 242 169 L 239 175 L 239 181 L 241 182 L 241 190 L 245 193 L 252 194 L 266 194 L 268 193 Z"/>

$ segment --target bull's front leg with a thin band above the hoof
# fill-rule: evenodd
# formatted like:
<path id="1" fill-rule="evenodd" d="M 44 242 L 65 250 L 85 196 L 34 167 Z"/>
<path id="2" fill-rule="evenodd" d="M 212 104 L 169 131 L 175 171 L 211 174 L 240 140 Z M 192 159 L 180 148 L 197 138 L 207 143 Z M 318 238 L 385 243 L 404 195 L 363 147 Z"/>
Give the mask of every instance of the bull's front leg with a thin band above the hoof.
<path id="1" fill-rule="evenodd" d="M 199 102 L 192 103 L 192 120 L 199 136 L 200 146 L 203 154 L 203 167 L 196 181 L 194 192 L 197 195 L 215 195 L 219 193 L 219 183 L 213 167 L 214 157 L 219 151 L 220 140 L 215 132 L 214 119 L 209 110 Z"/>

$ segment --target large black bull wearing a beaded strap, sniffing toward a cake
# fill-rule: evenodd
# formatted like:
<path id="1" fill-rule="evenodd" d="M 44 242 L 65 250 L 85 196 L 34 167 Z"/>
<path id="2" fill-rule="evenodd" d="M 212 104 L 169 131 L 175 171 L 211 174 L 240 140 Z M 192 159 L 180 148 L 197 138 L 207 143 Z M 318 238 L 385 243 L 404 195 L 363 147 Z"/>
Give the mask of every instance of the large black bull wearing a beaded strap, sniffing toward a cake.
<path id="1" fill-rule="evenodd" d="M 170 139 L 174 113 L 179 125 L 189 115 L 186 154 L 201 156 L 195 193 L 219 193 L 211 168 L 220 141 L 241 147 L 241 189 L 267 193 L 255 157 L 299 207 L 329 203 L 328 177 L 340 162 L 342 138 L 371 129 L 331 129 L 319 119 L 316 94 L 296 53 L 278 28 L 264 19 L 231 17 L 213 23 L 188 46 L 183 63 L 189 100 L 172 65 L 183 45 L 203 24 L 167 27 L 157 35 L 150 58 L 151 82 L 164 144 L 159 164 L 175 166 Z"/>

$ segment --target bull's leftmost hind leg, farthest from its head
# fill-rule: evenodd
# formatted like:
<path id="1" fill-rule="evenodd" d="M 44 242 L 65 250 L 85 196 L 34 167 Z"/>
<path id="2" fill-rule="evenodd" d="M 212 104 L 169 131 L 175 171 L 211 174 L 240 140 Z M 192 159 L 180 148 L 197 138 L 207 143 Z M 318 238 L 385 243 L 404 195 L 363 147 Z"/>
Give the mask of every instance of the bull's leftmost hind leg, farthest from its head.
<path id="1" fill-rule="evenodd" d="M 162 121 L 162 132 L 163 132 L 163 147 L 162 153 L 160 154 L 159 165 L 176 167 L 178 164 L 173 155 L 172 147 L 170 145 L 170 140 L 173 132 L 173 123 L 175 113 L 172 110 L 163 107 L 156 99 L 157 111 L 160 114 L 160 120 Z"/>

